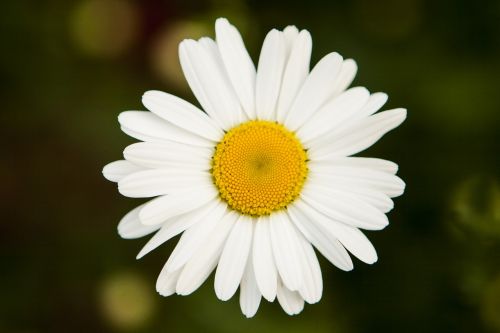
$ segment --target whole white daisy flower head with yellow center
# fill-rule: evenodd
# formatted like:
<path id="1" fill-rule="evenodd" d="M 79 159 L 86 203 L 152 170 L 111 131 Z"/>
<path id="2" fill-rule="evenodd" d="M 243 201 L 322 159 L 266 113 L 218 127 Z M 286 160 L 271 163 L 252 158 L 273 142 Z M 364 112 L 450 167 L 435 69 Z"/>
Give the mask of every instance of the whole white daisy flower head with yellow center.
<path id="1" fill-rule="evenodd" d="M 161 295 L 188 295 L 215 269 L 215 293 L 240 288 L 252 317 L 261 297 L 288 314 L 318 302 L 322 276 L 313 246 L 344 271 L 347 251 L 368 264 L 374 247 L 359 229 L 380 230 L 392 197 L 403 193 L 393 162 L 352 157 L 406 117 L 377 112 L 387 100 L 363 87 L 346 90 L 356 63 L 338 53 L 309 71 L 308 31 L 270 31 L 257 69 L 235 27 L 215 24 L 216 40 L 184 40 L 184 75 L 203 111 L 173 95 L 148 91 L 151 112 L 119 115 L 122 130 L 143 142 L 104 167 L 121 194 L 156 197 L 118 225 L 123 238 L 156 232 L 141 258 L 181 234 L 158 277 Z"/>

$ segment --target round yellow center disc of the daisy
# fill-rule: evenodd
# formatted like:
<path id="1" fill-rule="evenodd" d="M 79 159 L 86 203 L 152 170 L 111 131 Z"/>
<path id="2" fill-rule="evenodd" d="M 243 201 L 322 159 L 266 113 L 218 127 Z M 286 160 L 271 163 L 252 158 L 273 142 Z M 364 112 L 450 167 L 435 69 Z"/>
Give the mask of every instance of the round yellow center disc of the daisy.
<path id="1" fill-rule="evenodd" d="M 217 144 L 212 175 L 220 197 L 247 215 L 269 215 L 300 193 L 307 155 L 295 134 L 263 120 L 232 128 Z"/>

